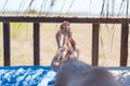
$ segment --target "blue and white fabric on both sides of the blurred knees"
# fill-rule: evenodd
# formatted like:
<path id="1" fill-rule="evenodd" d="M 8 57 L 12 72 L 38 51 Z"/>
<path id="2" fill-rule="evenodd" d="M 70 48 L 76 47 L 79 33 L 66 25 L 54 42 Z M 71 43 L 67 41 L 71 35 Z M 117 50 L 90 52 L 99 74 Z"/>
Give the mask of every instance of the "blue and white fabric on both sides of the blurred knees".
<path id="1" fill-rule="evenodd" d="M 130 67 L 106 68 L 122 86 L 130 86 Z M 53 86 L 55 72 L 51 67 L 0 67 L 0 86 Z"/>

